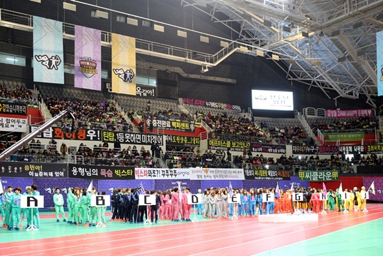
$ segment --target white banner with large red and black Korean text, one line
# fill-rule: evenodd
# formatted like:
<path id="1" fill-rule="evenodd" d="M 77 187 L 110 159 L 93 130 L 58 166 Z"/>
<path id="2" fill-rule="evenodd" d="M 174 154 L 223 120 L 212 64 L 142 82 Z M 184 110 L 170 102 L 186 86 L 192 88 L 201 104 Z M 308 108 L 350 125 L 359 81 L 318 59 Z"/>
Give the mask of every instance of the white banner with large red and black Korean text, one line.
<path id="1" fill-rule="evenodd" d="M 187 168 L 134 168 L 136 179 L 190 179 Z"/>

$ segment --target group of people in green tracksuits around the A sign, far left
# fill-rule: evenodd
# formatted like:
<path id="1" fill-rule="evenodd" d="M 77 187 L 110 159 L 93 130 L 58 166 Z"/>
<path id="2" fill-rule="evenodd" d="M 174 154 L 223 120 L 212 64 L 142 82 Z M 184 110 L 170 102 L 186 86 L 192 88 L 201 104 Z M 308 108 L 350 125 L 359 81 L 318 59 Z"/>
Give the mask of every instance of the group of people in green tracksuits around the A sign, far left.
<path id="1" fill-rule="evenodd" d="M 40 216 L 37 208 L 22 209 L 21 208 L 21 197 L 22 195 L 40 195 L 37 190 L 38 186 L 33 184 L 27 186 L 25 192 L 22 194 L 22 188 L 13 188 L 8 186 L 6 192 L 0 195 L 0 209 L 1 218 L 3 218 L 3 227 L 8 230 L 19 230 L 22 227 L 22 220 L 26 217 L 28 228 L 32 223 L 37 228 L 40 227 Z"/>

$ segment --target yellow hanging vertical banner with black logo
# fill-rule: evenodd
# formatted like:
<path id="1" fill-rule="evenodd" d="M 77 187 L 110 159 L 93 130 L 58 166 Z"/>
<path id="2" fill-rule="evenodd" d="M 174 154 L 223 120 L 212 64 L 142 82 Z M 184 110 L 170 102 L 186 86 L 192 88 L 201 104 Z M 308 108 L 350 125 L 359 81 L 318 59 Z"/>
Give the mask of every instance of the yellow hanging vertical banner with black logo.
<path id="1" fill-rule="evenodd" d="M 111 34 L 111 91 L 136 95 L 136 38 Z"/>

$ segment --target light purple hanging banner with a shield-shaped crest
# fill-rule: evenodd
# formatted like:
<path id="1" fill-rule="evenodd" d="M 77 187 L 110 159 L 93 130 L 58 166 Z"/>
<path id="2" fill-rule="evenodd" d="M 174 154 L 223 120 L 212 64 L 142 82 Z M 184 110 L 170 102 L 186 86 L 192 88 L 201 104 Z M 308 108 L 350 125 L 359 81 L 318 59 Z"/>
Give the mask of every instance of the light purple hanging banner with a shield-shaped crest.
<path id="1" fill-rule="evenodd" d="M 75 87 L 101 91 L 101 31 L 75 26 Z"/>

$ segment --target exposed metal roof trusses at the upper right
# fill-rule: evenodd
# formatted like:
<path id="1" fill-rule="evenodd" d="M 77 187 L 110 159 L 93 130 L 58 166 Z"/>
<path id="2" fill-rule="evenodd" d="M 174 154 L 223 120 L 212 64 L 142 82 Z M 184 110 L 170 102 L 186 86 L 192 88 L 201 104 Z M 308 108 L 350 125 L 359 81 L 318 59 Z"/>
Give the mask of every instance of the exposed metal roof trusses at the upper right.
<path id="1" fill-rule="evenodd" d="M 359 98 L 379 107 L 373 97 L 383 0 L 180 1 L 232 29 L 233 40 L 237 36 L 253 45 L 248 54 L 259 56 L 261 49 L 289 80 L 319 87 L 328 98 L 330 90 L 336 91 L 335 102 L 339 97 Z M 220 20 L 217 13 L 228 18 Z M 238 22 L 240 29 L 230 22 Z"/>

